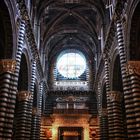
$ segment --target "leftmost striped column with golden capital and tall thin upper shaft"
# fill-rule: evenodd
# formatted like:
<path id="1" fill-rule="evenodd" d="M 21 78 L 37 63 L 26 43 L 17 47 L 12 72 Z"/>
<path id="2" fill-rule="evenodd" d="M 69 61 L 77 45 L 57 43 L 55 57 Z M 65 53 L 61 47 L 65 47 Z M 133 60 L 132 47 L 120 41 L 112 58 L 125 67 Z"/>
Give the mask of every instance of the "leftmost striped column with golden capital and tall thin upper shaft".
<path id="1" fill-rule="evenodd" d="M 2 60 L 0 75 L 0 138 L 11 139 L 13 133 L 13 119 L 16 103 L 18 75 L 25 33 L 25 22 L 21 20 L 18 33 L 16 61 Z M 14 69 L 14 71 L 13 71 Z"/>

